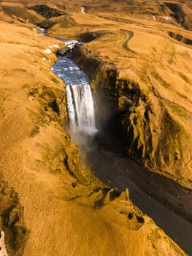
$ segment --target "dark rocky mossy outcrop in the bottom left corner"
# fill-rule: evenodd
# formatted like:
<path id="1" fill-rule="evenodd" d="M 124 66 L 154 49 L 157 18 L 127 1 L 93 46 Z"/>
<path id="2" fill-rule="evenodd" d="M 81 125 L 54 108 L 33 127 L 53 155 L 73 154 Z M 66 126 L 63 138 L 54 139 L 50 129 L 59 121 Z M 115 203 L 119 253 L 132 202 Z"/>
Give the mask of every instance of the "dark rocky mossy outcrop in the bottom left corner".
<path id="1" fill-rule="evenodd" d="M 0 184 L 0 233 L 2 244 L 1 252 L 4 255 L 23 255 L 23 249 L 26 245 L 28 230 L 23 220 L 23 207 L 20 206 L 18 194 L 5 181 Z M 2 237 L 1 237 L 2 236 Z M 5 241 L 5 244 L 4 244 Z M 6 253 L 7 252 L 7 253 Z"/>

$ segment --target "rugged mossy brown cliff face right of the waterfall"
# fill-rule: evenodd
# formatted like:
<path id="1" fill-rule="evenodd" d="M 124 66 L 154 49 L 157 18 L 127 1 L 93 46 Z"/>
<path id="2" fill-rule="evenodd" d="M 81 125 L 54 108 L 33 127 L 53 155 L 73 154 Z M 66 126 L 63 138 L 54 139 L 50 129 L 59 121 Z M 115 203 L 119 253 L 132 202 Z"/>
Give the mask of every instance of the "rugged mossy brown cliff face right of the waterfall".
<path id="1" fill-rule="evenodd" d="M 102 94 L 103 89 L 102 100 L 118 108 L 128 155 L 191 188 L 191 110 L 183 104 L 185 96 L 180 94 L 181 102 L 178 94 L 176 100 L 167 97 L 171 85 L 158 73 L 134 70 L 133 76 L 131 69 L 118 70 L 81 46 L 76 47 L 72 58 L 88 73 L 96 94 Z M 96 105 L 102 105 L 97 98 Z"/>

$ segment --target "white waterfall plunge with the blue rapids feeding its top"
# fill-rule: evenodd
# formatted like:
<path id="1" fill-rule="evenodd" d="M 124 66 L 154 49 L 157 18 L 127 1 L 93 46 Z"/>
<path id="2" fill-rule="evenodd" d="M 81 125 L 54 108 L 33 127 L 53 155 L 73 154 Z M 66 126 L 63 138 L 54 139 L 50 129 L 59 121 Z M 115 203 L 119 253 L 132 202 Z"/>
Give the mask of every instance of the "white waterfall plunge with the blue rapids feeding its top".
<path id="1" fill-rule="evenodd" d="M 63 40 L 69 48 L 75 40 Z M 58 56 L 58 61 L 51 68 L 66 83 L 67 109 L 72 132 L 93 135 L 97 132 L 91 87 L 88 76 L 66 56 Z"/>

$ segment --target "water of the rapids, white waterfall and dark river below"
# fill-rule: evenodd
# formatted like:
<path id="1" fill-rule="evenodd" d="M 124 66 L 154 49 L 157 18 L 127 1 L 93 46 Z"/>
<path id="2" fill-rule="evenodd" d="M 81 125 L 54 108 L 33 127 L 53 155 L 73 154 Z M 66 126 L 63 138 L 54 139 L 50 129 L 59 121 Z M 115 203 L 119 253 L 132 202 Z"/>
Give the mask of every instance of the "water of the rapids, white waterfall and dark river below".
<path id="1" fill-rule="evenodd" d="M 77 43 L 74 40 L 63 41 L 70 48 Z M 66 83 L 67 108 L 72 134 L 80 132 L 93 137 L 97 129 L 88 76 L 67 55 L 58 56 L 58 61 L 56 61 L 51 69 Z M 107 135 L 105 138 L 107 138 Z M 110 138 L 106 140 L 109 141 Z M 167 204 L 154 199 L 152 194 L 157 193 L 158 187 L 163 184 L 162 187 L 165 187 L 165 189 L 163 188 L 158 193 L 164 192 L 169 197 L 169 189 L 174 188 L 177 191 L 175 193 L 180 195 L 180 198 L 178 197 L 178 200 L 180 200 L 178 203 L 180 204 L 186 203 L 185 200 L 191 198 L 191 195 L 186 197 L 184 192 L 182 194 L 180 188 L 175 188 L 176 184 L 174 184 L 174 181 L 166 181 L 164 177 L 161 177 L 162 179 L 159 181 L 159 177 L 155 174 L 151 175 L 149 171 L 136 162 L 127 159 L 119 154 L 119 152 L 115 152 L 115 146 L 113 146 L 113 151 L 110 151 L 109 147 L 105 148 L 105 142 L 100 142 L 99 144 L 98 148 L 93 150 L 89 156 L 96 175 L 102 181 L 110 184 L 110 186 L 118 187 L 120 191 L 128 187 L 130 199 L 145 214 L 152 217 L 185 252 L 192 255 L 191 222 L 177 216 L 174 211 L 170 210 Z M 154 187 L 155 182 L 158 184 L 158 187 Z M 166 182 L 168 183 L 166 184 Z"/>

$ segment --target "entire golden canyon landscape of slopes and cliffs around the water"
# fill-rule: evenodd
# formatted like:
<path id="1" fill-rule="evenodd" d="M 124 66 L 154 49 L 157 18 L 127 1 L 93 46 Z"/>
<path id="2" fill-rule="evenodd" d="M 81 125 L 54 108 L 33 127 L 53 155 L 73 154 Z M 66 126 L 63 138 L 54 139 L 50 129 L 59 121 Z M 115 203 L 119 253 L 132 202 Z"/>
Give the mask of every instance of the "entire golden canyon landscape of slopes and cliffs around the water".
<path id="1" fill-rule="evenodd" d="M 67 132 L 66 85 L 50 70 L 65 47 L 55 38 L 86 42 L 70 58 L 91 80 L 97 128 L 112 121 L 123 157 L 157 183 L 175 182 L 185 201 L 176 213 L 191 225 L 191 3 L 170 2 L 0 2 L 0 229 L 8 255 L 185 255 L 123 183 L 118 191 L 100 181 L 83 160 Z"/>

